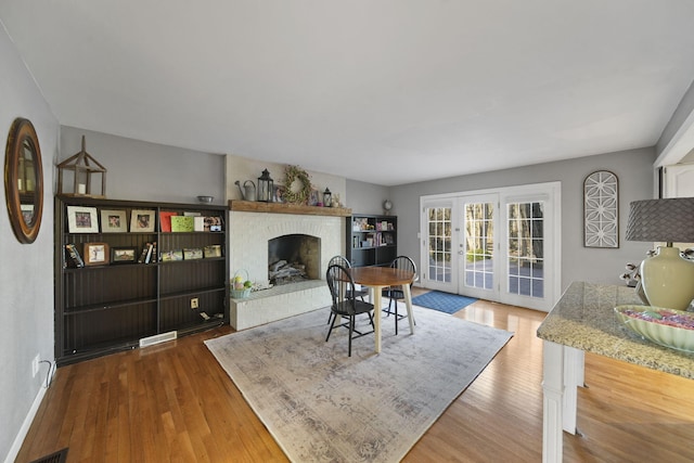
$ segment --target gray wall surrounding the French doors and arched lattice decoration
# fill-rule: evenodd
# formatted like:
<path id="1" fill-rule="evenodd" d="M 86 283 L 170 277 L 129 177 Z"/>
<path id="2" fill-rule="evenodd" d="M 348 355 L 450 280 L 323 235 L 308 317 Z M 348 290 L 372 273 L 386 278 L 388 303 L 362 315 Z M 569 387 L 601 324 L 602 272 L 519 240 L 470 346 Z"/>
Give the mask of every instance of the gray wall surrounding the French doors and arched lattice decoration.
<path id="1" fill-rule="evenodd" d="M 394 187 L 397 207 L 398 253 L 420 261 L 420 196 L 485 190 L 549 181 L 562 182 L 562 291 L 571 281 L 622 284 L 619 274 L 627 262 L 640 262 L 648 243 L 625 241 L 629 203 L 653 197 L 654 149 L 581 157 L 515 169 L 454 177 Z M 583 247 L 583 180 L 595 170 L 611 170 L 619 179 L 619 248 Z"/>

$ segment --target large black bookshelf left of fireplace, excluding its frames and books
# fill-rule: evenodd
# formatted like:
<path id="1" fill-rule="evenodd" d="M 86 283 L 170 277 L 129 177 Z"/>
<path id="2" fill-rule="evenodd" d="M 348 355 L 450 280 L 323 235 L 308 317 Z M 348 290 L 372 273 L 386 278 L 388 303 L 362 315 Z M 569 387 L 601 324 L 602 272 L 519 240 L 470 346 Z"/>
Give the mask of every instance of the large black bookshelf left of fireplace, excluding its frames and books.
<path id="1" fill-rule="evenodd" d="M 69 230 L 68 206 L 97 209 L 99 231 Z M 133 209 L 154 211 L 154 230 L 130 232 Z M 93 210 L 93 209 L 92 209 Z M 101 211 L 125 211 L 127 231 L 102 232 Z M 163 232 L 160 211 L 221 217 L 219 232 Z M 228 208 L 206 204 L 153 203 L 57 195 L 55 219 L 55 358 L 59 365 L 132 349 L 143 337 L 177 332 L 177 336 L 229 323 Z M 66 244 L 81 254 L 86 243 L 133 247 L 140 253 L 156 242 L 157 258 L 150 263 L 68 267 Z M 162 253 L 221 246 L 222 257 L 162 261 Z M 197 308 L 191 300 L 197 299 Z M 201 312 L 207 313 L 205 320 Z"/>

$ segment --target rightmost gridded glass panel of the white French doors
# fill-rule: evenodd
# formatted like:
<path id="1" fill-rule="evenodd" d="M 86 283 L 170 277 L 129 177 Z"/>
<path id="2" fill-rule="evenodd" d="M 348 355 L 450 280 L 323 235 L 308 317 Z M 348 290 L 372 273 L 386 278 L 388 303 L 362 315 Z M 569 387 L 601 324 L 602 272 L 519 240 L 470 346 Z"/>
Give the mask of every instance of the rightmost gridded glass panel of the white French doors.
<path id="1" fill-rule="evenodd" d="M 509 211 L 509 285 L 506 291 L 544 297 L 543 203 L 513 203 Z"/>

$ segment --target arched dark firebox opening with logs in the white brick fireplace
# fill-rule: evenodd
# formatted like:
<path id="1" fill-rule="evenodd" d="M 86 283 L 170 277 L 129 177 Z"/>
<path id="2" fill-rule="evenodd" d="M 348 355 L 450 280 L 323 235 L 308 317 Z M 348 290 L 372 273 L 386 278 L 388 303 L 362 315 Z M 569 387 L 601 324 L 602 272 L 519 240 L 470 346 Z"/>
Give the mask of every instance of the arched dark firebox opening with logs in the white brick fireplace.
<path id="1" fill-rule="evenodd" d="M 268 241 L 270 284 L 320 280 L 321 240 L 307 234 L 286 234 Z"/>

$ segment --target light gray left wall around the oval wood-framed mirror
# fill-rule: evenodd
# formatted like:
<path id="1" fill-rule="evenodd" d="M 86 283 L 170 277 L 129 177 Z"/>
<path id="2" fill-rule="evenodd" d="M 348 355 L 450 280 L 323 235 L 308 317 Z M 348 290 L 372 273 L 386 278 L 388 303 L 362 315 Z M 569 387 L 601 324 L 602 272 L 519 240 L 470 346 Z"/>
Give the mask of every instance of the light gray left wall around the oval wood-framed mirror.
<path id="1" fill-rule="evenodd" d="M 14 459 L 12 447 L 30 410 L 42 397 L 48 365 L 33 377 L 31 360 L 53 360 L 53 169 L 59 125 L 34 78 L 0 24 L 0 133 L 2 147 L 12 121 L 34 124 L 43 165 L 43 217 L 33 244 L 14 237 L 7 211 L 0 211 L 0 461 Z M 2 204 L 5 204 L 2 188 Z M 4 209 L 4 207 L 3 207 Z M 21 443 L 21 442 L 20 442 Z M 12 453 L 12 454 L 10 454 Z"/>

